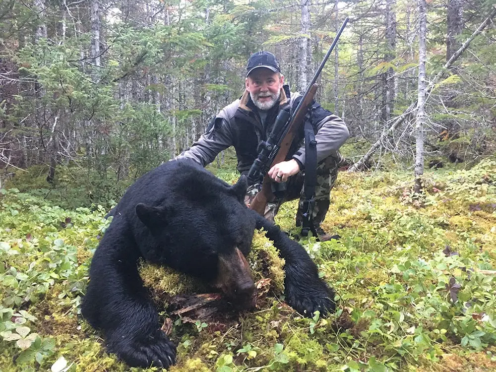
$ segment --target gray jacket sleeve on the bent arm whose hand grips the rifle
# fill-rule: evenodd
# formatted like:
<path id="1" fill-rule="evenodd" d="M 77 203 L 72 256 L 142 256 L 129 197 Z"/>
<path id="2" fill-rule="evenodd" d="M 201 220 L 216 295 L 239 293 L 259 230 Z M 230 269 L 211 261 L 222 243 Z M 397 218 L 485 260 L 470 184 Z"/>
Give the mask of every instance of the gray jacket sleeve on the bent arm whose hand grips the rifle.
<path id="1" fill-rule="evenodd" d="M 348 127 L 340 117 L 324 110 L 318 103 L 312 105 L 312 110 L 312 117 L 317 122 L 314 126 L 316 128 L 317 163 L 329 156 L 338 158 L 339 148 L 350 136 Z M 305 166 L 305 145 L 296 151 L 293 159 Z"/>

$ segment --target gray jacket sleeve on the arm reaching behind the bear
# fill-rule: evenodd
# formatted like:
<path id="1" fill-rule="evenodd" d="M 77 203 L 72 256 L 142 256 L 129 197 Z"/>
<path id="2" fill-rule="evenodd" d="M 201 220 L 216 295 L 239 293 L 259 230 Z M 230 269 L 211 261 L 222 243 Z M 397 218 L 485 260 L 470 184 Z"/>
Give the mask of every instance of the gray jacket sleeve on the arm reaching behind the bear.
<path id="1" fill-rule="evenodd" d="M 178 155 L 176 159 L 192 159 L 202 167 L 205 167 L 214 161 L 219 152 L 232 144 L 233 136 L 226 120 L 216 117 L 208 126 L 207 131 L 189 149 Z"/>

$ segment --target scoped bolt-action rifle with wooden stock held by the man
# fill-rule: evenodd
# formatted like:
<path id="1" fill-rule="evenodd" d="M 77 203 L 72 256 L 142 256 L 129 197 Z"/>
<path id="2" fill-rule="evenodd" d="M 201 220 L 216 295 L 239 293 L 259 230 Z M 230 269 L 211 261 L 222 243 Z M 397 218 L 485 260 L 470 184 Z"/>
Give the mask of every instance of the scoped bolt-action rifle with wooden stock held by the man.
<path id="1" fill-rule="evenodd" d="M 260 191 L 255 195 L 248 207 L 261 216 L 264 215 L 267 202 L 272 201 L 275 198 L 274 191 L 272 190 L 273 182 L 270 177 L 267 176 L 267 172 L 274 165 L 286 160 L 293 139 L 298 132 L 298 129 L 305 123 L 305 116 L 315 97 L 318 87 L 318 85 L 315 84 L 315 81 L 324 68 L 325 62 L 327 62 L 327 59 L 336 46 L 347 23 L 348 18 L 344 20 L 324 59 L 320 62 L 317 71 L 313 75 L 313 78 L 293 115 L 290 115 L 286 110 L 281 110 L 277 115 L 268 139 L 259 144 L 258 157 L 253 162 L 248 172 L 248 183 L 250 185 L 256 185 L 260 182 L 262 177 L 263 181 Z M 312 145 L 316 145 L 316 142 L 312 143 Z"/>

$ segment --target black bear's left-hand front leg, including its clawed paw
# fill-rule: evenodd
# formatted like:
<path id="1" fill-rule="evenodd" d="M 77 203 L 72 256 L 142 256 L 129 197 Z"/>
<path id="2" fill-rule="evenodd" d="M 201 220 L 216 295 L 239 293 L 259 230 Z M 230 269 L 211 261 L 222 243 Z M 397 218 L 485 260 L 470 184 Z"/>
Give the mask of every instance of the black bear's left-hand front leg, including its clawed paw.
<path id="1" fill-rule="evenodd" d="M 129 237 L 110 230 L 93 256 L 82 314 L 105 332 L 108 351 L 129 366 L 168 368 L 176 362 L 176 347 L 160 329 L 143 287 L 137 249 L 129 248 Z"/>

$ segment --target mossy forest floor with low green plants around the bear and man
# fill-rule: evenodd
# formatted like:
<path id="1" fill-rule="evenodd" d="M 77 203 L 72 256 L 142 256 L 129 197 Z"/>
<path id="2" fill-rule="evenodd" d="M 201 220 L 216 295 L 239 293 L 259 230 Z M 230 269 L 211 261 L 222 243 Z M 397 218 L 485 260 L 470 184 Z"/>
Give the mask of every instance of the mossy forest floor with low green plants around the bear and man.
<path id="1" fill-rule="evenodd" d="M 257 234 L 251 264 L 274 285 L 255 310 L 208 323 L 158 301 L 178 345 L 170 371 L 495 371 L 496 159 L 430 171 L 421 195 L 410 172 L 341 172 L 331 196 L 323 227 L 341 239 L 301 243 L 335 288 L 336 313 L 304 318 L 289 308 L 283 263 Z M 1 189 L 0 371 L 129 371 L 80 316 L 113 197 L 77 207 L 28 187 Z M 285 204 L 277 223 L 300 239 L 296 207 Z M 142 268 L 152 293 L 187 287 L 164 273 Z"/>

